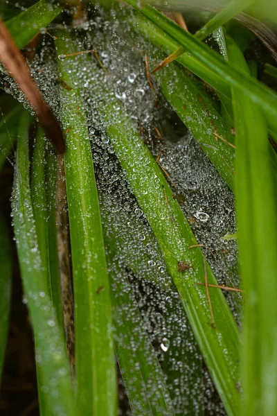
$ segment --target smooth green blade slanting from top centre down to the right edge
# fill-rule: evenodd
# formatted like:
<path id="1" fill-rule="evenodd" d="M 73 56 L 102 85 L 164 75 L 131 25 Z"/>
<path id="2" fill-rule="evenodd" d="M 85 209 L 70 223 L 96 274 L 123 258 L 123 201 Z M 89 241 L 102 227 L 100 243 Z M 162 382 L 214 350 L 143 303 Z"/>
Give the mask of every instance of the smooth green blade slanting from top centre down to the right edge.
<path id="1" fill-rule="evenodd" d="M 125 1 L 152 20 L 168 35 L 172 36 L 179 42 L 179 46 L 186 48 L 189 53 L 197 58 L 199 63 L 203 64 L 210 71 L 214 71 L 221 80 L 247 94 L 253 103 L 262 108 L 269 127 L 272 130 L 277 130 L 277 95 L 273 90 L 245 73 L 238 71 L 235 66 L 226 62 L 218 53 L 199 42 L 193 35 L 184 31 L 184 29 L 151 6 L 139 8 L 135 0 Z"/>

